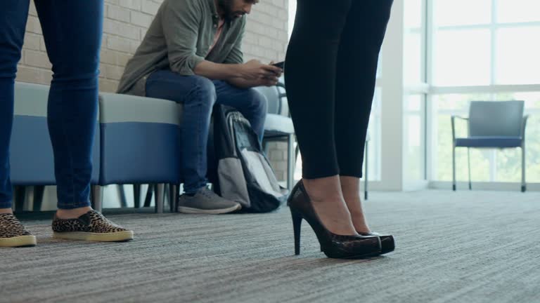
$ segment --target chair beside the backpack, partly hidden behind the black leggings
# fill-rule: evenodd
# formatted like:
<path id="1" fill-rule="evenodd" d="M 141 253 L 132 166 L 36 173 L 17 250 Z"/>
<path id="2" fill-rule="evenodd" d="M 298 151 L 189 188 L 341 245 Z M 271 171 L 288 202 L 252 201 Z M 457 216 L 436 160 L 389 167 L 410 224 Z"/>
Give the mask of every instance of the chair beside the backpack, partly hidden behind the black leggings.
<path id="1" fill-rule="evenodd" d="M 267 154 L 267 143 L 273 141 L 286 141 L 287 146 L 287 187 L 293 189 L 295 179 L 295 127 L 293 120 L 290 119 L 287 104 L 287 94 L 285 92 L 285 84 L 278 83 L 277 86 L 265 87 L 260 86 L 255 88 L 266 96 L 268 100 L 268 114 L 266 114 L 266 122 L 264 123 L 264 152 Z"/>

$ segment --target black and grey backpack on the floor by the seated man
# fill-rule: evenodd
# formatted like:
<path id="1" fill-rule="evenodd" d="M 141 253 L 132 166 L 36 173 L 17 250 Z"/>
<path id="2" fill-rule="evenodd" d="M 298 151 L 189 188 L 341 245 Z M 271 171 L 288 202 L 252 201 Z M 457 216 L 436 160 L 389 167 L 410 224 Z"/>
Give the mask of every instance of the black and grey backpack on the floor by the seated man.
<path id="1" fill-rule="evenodd" d="M 208 177 L 220 196 L 250 213 L 279 208 L 288 197 L 262 152 L 257 134 L 240 112 L 215 105 L 208 144 Z"/>

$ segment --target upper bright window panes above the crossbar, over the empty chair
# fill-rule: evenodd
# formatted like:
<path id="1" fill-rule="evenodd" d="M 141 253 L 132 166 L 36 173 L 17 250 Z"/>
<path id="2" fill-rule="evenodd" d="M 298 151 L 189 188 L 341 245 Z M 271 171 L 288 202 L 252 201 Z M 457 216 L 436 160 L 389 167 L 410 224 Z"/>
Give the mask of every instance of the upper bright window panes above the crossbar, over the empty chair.
<path id="1" fill-rule="evenodd" d="M 540 1 L 432 4 L 434 86 L 540 83 Z"/>

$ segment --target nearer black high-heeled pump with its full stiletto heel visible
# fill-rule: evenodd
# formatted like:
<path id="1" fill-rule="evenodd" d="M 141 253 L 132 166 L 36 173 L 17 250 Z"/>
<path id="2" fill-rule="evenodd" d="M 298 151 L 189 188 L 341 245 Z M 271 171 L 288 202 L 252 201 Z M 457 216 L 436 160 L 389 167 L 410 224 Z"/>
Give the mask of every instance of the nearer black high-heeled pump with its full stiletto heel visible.
<path id="1" fill-rule="evenodd" d="M 298 182 L 288 198 L 290 214 L 293 217 L 295 233 L 295 255 L 300 255 L 300 226 L 306 220 L 315 231 L 321 250 L 327 257 L 353 259 L 380 255 L 381 245 L 378 236 L 357 236 L 333 234 L 324 227 L 315 213 L 302 180 Z"/>

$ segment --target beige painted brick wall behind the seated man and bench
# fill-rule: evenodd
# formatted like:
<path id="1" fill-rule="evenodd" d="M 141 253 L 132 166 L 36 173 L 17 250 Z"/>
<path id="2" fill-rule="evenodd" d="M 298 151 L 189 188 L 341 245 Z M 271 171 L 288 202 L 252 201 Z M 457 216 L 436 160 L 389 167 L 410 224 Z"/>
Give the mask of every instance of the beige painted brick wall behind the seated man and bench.
<path id="1" fill-rule="evenodd" d="M 262 62 L 285 59 L 288 43 L 288 1 L 261 0 L 248 15 L 247 32 L 243 43 L 245 60 Z M 113 92 L 127 60 L 135 52 L 146 34 L 146 29 L 158 11 L 162 0 L 105 0 L 103 20 L 103 43 L 101 46 L 101 91 Z M 30 1 L 30 13 L 26 26 L 25 45 L 18 65 L 17 81 L 49 84 L 51 63 L 47 58 L 45 43 L 34 2 Z M 271 149 L 278 149 L 272 144 Z M 281 159 L 272 159 L 279 180 L 284 174 L 277 168 L 283 166 Z M 286 170 L 285 170 L 286 171 Z"/>

